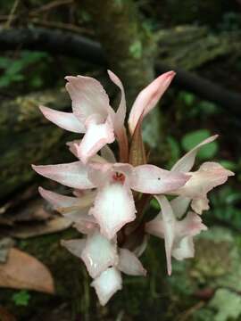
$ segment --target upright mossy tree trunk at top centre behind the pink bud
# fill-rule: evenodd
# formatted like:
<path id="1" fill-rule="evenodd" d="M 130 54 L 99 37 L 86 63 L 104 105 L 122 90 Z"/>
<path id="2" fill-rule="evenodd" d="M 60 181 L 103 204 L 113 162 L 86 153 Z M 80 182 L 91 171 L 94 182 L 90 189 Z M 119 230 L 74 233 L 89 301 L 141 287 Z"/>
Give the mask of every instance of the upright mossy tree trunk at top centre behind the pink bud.
<path id="1" fill-rule="evenodd" d="M 154 78 L 154 37 L 142 26 L 137 6 L 131 0 L 79 3 L 92 18 L 110 68 L 127 85 L 130 106 L 137 93 Z"/>

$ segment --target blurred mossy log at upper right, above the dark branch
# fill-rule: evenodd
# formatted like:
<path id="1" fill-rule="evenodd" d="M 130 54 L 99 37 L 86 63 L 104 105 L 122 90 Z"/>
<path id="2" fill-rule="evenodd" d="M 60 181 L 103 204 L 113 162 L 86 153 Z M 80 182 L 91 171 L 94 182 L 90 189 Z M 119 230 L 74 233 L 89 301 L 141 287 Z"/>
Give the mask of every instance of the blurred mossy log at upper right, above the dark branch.
<path id="1" fill-rule="evenodd" d="M 163 29 L 155 35 L 159 44 L 158 60 L 173 68 L 195 70 L 229 53 L 239 55 L 240 35 L 239 30 L 214 34 L 200 26 Z"/>

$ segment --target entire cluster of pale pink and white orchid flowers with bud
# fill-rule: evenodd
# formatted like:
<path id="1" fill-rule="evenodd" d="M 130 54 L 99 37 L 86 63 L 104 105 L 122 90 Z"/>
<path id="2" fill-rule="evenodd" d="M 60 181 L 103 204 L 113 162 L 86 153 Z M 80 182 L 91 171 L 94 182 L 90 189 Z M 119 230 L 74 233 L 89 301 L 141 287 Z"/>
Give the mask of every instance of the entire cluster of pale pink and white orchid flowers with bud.
<path id="1" fill-rule="evenodd" d="M 83 76 L 66 78 L 72 112 L 40 106 L 46 119 L 83 136 L 67 144 L 78 161 L 33 165 L 38 174 L 73 188 L 73 196 L 42 187 L 39 193 L 85 235 L 62 241 L 62 245 L 84 261 L 102 305 L 121 289 L 121 273 L 145 276 L 138 258 L 145 251 L 146 235 L 164 239 L 169 275 L 171 257 L 193 257 L 193 237 L 206 229 L 200 215 L 209 209 L 207 193 L 233 175 L 216 162 L 204 162 L 200 169 L 191 171 L 198 150 L 217 136 L 195 146 L 170 170 L 147 164 L 141 124 L 170 86 L 175 72 L 162 74 L 137 95 L 129 113 L 128 132 L 123 86 L 111 71 L 109 76 L 120 88 L 117 111 L 110 106 L 103 86 L 95 78 Z M 108 146 L 115 139 L 118 160 Z M 152 197 L 159 202 L 160 212 L 146 222 L 144 209 Z"/>

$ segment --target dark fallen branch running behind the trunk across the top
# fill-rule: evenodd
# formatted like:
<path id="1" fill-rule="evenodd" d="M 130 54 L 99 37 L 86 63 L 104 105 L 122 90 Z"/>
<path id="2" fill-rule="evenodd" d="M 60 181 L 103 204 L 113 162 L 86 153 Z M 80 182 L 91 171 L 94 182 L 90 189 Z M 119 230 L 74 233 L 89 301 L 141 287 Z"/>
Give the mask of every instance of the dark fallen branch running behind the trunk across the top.
<path id="1" fill-rule="evenodd" d="M 106 64 L 100 44 L 86 37 L 49 29 L 10 29 L 0 31 L 0 51 L 21 49 L 47 51 L 78 57 L 98 65 Z M 173 68 L 173 67 L 172 67 Z M 161 73 L 170 66 L 157 64 L 156 71 Z M 185 88 L 201 98 L 217 103 L 220 107 L 229 108 L 229 112 L 240 115 L 241 95 L 224 89 L 212 81 L 199 77 L 192 72 L 179 70 L 175 85 Z"/>

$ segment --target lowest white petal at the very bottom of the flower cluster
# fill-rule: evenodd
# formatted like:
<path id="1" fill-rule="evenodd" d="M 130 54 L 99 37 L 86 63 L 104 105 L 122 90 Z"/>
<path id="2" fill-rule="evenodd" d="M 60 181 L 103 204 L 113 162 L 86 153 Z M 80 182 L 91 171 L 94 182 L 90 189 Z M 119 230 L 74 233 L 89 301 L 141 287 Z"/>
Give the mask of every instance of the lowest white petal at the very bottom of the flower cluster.
<path id="1" fill-rule="evenodd" d="M 96 289 L 100 304 L 104 306 L 122 288 L 120 272 L 116 268 L 108 268 L 91 285 Z"/>

